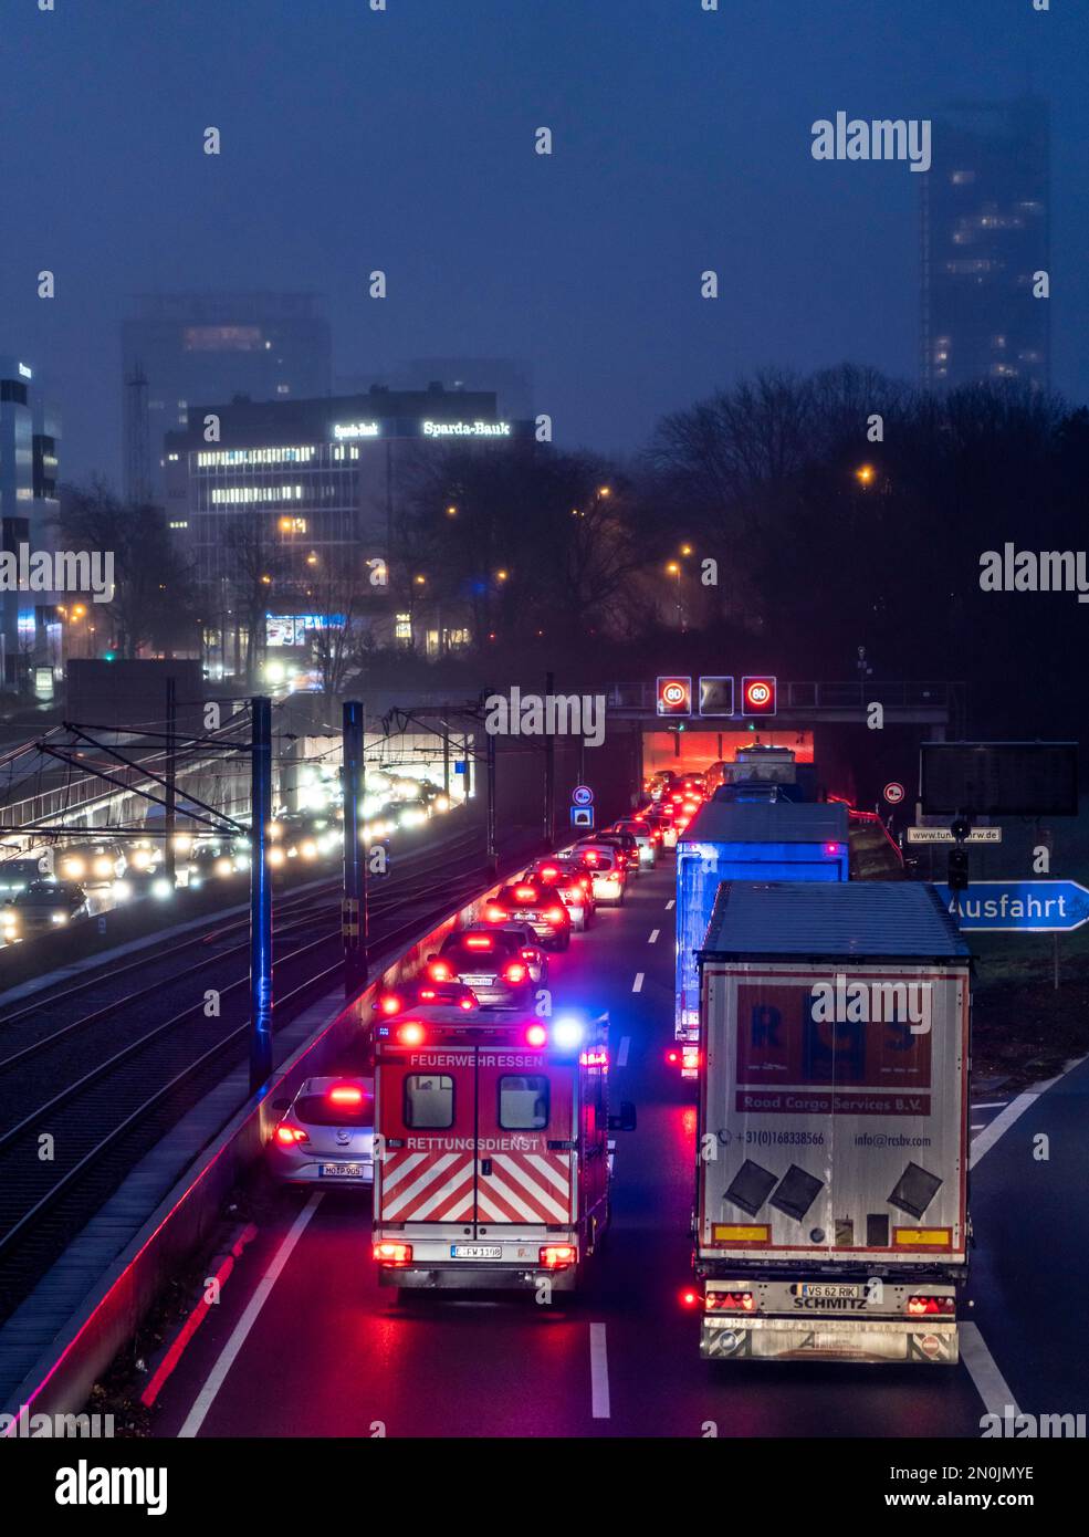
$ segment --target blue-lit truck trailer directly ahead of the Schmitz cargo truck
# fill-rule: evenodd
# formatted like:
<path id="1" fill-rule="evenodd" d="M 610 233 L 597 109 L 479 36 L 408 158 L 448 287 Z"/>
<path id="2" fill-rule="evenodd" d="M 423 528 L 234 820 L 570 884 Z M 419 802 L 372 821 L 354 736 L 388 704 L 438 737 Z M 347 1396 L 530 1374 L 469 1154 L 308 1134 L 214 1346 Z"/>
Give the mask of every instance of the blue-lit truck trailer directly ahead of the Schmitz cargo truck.
<path id="1" fill-rule="evenodd" d="M 848 807 L 839 801 L 708 801 L 677 839 L 674 1034 L 699 1039 L 699 971 L 723 881 L 846 881 Z"/>

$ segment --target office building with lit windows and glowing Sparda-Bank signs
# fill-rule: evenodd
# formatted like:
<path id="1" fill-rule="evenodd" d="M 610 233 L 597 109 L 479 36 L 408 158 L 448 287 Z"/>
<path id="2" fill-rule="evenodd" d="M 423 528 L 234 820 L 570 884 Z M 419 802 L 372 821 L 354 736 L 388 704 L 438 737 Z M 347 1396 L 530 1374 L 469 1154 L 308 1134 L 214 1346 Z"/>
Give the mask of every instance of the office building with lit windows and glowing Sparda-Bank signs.
<path id="1" fill-rule="evenodd" d="M 261 649 L 306 646 L 349 604 L 375 644 L 467 644 L 455 615 L 427 629 L 390 570 L 401 510 L 429 453 L 525 433 L 531 424 L 498 415 L 495 393 L 441 384 L 192 406 L 186 430 L 164 438 L 164 504 L 197 584 L 209 662 L 238 670 L 258 583 L 269 598 Z"/>

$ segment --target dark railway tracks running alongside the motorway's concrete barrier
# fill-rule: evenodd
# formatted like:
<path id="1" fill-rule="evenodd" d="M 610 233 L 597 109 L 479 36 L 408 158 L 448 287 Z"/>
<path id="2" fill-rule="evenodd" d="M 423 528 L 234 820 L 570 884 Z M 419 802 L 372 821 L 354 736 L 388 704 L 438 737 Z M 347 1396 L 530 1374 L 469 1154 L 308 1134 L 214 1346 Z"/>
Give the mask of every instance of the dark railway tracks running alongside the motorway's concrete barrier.
<path id="1" fill-rule="evenodd" d="M 392 953 L 481 885 L 475 832 L 418 855 L 370 904 L 372 954 Z M 273 1034 L 341 974 L 339 882 L 327 885 L 327 899 L 324 882 L 281 899 Z M 244 921 L 220 924 L 0 1019 L 0 1320 L 132 1165 L 244 1057 Z M 212 1017 L 207 988 L 220 998 Z"/>

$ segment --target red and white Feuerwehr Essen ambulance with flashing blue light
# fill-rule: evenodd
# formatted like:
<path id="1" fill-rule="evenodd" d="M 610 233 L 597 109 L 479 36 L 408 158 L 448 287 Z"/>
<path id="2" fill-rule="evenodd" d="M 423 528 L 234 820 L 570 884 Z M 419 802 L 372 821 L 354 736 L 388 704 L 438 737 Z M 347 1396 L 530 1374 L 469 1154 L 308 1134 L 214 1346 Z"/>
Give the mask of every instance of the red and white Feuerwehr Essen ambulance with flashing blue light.
<path id="1" fill-rule="evenodd" d="M 608 1227 L 608 1016 L 413 1008 L 375 1027 L 387 1286 L 573 1291 Z"/>

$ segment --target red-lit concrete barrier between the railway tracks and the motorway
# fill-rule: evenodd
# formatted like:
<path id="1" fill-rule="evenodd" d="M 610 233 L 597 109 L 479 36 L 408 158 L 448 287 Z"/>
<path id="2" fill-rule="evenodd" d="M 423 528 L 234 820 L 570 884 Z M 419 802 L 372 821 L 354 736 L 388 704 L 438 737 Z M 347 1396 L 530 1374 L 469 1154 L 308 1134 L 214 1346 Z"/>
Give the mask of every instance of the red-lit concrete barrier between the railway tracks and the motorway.
<path id="1" fill-rule="evenodd" d="M 186 1170 L 23 1379 L 5 1414 L 75 1414 L 83 1408 L 91 1388 L 134 1337 L 166 1282 L 207 1245 L 221 1222 L 226 1197 L 263 1157 L 278 1119 L 273 1102 L 293 1096 L 306 1077 L 332 1071 L 352 1036 L 370 1022 L 376 988 L 415 976 L 447 933 L 472 922 L 502 884 L 488 885 L 407 948 L 378 958 L 382 970 L 366 991 L 321 1024 L 276 1070 L 266 1093 L 247 1100 Z M 12 1425 L 8 1434 L 17 1434 L 17 1428 Z"/>

